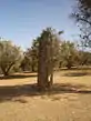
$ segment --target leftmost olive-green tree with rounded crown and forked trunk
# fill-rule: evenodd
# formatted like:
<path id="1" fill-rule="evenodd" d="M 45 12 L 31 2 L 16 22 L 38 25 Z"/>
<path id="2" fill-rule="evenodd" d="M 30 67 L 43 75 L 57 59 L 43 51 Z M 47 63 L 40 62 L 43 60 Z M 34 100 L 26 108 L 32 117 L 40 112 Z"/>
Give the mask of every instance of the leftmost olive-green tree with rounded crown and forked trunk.
<path id="1" fill-rule="evenodd" d="M 0 69 L 4 75 L 22 59 L 22 51 L 11 41 L 0 41 Z"/>

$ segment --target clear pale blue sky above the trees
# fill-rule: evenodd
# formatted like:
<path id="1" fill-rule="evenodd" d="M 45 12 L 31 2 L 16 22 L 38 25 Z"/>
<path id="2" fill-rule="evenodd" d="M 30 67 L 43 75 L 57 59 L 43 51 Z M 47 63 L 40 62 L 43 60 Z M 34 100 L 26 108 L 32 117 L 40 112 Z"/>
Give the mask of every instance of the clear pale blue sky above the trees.
<path id="1" fill-rule="evenodd" d="M 64 31 L 63 39 L 75 40 L 79 29 L 69 17 L 73 6 L 73 0 L 0 0 L 0 37 L 27 49 L 52 27 Z"/>

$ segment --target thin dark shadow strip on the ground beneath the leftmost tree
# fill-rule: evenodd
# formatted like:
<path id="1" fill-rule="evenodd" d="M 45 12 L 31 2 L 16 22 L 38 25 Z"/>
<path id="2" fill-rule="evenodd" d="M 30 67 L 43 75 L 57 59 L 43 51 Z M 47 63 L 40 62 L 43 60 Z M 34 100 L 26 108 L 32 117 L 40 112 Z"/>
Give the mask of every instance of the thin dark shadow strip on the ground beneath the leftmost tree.
<path id="1" fill-rule="evenodd" d="M 12 74 L 12 75 L 7 75 L 7 77 L 0 77 L 0 80 L 4 79 L 24 79 L 24 78 L 34 78 L 37 74 L 30 73 L 30 74 Z"/>

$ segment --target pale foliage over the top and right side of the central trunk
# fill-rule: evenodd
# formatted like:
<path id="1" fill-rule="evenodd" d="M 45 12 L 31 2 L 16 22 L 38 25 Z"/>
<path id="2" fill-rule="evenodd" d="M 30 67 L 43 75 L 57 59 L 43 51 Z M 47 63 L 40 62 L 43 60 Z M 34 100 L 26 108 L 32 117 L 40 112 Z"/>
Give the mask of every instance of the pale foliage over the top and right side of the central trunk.
<path id="1" fill-rule="evenodd" d="M 48 56 L 49 64 L 50 60 L 52 58 L 53 68 L 58 67 L 59 58 L 60 58 L 60 34 L 62 34 L 63 31 L 57 32 L 52 28 L 47 28 L 42 31 L 40 41 L 46 41 L 47 50 L 51 51 Z"/>

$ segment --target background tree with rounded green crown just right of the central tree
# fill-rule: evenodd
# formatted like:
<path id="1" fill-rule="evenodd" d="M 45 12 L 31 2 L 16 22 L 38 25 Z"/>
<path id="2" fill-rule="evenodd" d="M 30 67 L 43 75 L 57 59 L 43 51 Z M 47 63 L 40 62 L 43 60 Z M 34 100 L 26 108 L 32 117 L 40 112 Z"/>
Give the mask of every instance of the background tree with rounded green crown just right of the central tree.
<path id="1" fill-rule="evenodd" d="M 74 43 L 64 41 L 60 48 L 60 64 L 71 69 L 75 65 L 79 59 L 79 52 L 77 51 Z"/>

